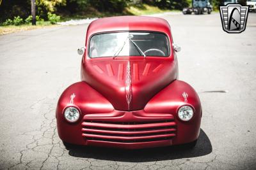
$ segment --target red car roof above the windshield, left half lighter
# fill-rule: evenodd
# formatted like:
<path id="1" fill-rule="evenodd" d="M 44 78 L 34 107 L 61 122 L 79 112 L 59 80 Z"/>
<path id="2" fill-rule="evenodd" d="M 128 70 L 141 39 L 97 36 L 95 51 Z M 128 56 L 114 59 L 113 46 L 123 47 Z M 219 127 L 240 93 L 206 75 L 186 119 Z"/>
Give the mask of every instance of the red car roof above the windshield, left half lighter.
<path id="1" fill-rule="evenodd" d="M 99 32 L 157 31 L 170 36 L 170 25 L 163 18 L 145 16 L 120 16 L 94 20 L 87 30 L 87 38 Z"/>

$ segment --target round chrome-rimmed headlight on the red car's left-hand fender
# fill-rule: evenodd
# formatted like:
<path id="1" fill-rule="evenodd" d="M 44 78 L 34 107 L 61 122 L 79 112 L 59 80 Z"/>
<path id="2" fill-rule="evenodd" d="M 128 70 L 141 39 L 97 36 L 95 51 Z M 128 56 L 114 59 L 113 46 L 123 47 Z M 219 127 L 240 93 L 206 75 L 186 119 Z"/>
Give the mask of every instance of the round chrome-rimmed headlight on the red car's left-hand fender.
<path id="1" fill-rule="evenodd" d="M 68 113 L 69 111 L 69 113 Z M 74 112 L 74 114 L 76 115 L 70 115 L 70 111 Z M 69 116 L 72 116 L 74 117 L 73 119 L 72 118 L 68 118 L 68 115 Z M 81 111 L 79 110 L 79 108 L 77 108 L 76 106 L 67 106 L 64 111 L 63 111 L 63 117 L 64 119 L 67 121 L 67 122 L 70 122 L 70 123 L 74 123 L 74 122 L 77 122 L 79 120 L 81 116 Z"/>

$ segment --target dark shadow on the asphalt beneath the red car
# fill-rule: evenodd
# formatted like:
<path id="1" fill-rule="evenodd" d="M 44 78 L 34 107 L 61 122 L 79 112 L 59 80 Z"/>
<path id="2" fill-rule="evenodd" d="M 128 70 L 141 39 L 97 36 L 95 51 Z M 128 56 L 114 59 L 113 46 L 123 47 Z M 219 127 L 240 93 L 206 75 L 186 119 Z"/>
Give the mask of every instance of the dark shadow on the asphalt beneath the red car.
<path id="1" fill-rule="evenodd" d="M 147 148 L 140 150 L 75 146 L 69 149 L 68 154 L 73 157 L 92 158 L 99 160 L 113 160 L 121 162 L 150 162 L 158 160 L 200 157 L 211 152 L 211 141 L 205 132 L 200 129 L 198 141 L 195 148 L 193 149 L 187 149 L 182 145 L 161 148 Z"/>

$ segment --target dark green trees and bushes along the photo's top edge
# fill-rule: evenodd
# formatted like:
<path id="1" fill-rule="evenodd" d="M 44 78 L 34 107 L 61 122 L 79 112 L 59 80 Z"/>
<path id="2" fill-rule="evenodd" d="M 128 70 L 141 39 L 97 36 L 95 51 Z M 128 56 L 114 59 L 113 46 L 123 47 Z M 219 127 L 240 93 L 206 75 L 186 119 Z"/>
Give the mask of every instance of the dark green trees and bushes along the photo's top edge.
<path id="1" fill-rule="evenodd" d="M 48 12 L 72 15 L 96 13 L 122 14 L 130 5 L 142 6 L 143 3 L 158 6 L 161 9 L 182 10 L 191 6 L 193 0 L 36 0 L 36 15 L 48 19 Z M 223 0 L 210 0 L 214 10 L 223 3 Z M 246 0 L 239 0 L 246 4 Z M 0 6 L 0 22 L 8 18 L 20 16 L 23 20 L 31 15 L 31 0 L 3 0 Z M 6 22 L 7 23 L 7 22 Z"/>

